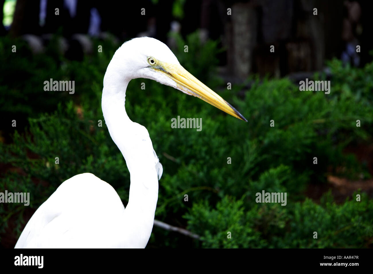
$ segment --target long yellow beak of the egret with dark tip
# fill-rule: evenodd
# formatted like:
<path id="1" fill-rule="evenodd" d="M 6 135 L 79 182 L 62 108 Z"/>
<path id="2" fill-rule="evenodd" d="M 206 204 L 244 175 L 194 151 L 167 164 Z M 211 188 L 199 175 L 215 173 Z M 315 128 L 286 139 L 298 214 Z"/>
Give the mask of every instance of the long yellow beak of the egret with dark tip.
<path id="1" fill-rule="evenodd" d="M 232 105 L 191 75 L 181 65 L 159 62 L 159 65 L 154 67 L 154 69 L 166 73 L 168 77 L 178 84 L 178 88 L 182 89 L 186 93 L 198 97 L 214 107 L 217 107 L 220 110 L 247 122 L 245 117 L 242 116 L 242 114 L 239 113 L 234 107 L 232 107 Z"/>

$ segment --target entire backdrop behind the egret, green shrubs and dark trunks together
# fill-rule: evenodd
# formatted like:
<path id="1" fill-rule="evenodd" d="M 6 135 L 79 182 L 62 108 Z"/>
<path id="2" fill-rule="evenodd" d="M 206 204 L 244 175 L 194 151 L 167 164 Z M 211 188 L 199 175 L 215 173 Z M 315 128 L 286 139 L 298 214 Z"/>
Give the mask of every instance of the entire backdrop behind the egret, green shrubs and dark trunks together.
<path id="1" fill-rule="evenodd" d="M 200 237 L 155 226 L 148 248 L 373 247 L 372 1 L 0 4 L 0 192 L 31 198 L 0 204 L 2 248 L 76 174 L 109 182 L 126 206 L 129 172 L 98 120 L 107 65 L 142 36 L 166 43 L 248 120 L 147 79 L 129 83 L 126 111 L 163 164 L 156 219 Z M 75 81 L 75 93 L 44 91 L 51 78 Z M 300 91 L 306 78 L 330 81 L 330 94 Z M 203 130 L 171 128 L 177 116 L 202 118 Z M 262 190 L 286 192 L 287 205 L 256 203 Z"/>

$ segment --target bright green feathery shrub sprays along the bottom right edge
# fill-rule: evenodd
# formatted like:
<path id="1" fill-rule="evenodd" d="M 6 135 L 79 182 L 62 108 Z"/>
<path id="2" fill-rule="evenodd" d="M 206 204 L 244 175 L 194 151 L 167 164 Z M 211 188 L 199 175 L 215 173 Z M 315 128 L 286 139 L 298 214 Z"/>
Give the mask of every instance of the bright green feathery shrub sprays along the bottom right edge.
<path id="1" fill-rule="evenodd" d="M 245 208 L 242 199 L 225 196 L 216 209 L 204 201 L 194 204 L 184 217 L 189 229 L 203 235 L 203 247 L 368 248 L 373 236 L 373 202 L 365 194 L 361 202 L 354 197 L 337 205 L 328 192 L 320 205 L 306 198 L 287 207 L 255 204 Z"/>

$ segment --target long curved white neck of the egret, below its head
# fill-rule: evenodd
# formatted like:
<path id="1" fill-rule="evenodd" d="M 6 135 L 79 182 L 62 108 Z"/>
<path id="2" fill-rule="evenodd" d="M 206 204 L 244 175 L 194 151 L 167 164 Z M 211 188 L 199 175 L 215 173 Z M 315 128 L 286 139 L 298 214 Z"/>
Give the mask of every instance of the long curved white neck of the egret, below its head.
<path id="1" fill-rule="evenodd" d="M 122 152 L 131 174 L 128 205 L 123 212 L 123 246 L 145 247 L 153 228 L 158 199 L 153 146 L 149 138 L 147 141 L 142 137 L 145 128 L 132 122 L 125 110 L 126 88 L 131 79 L 123 78 L 112 63 L 105 73 L 101 105 L 110 136 Z"/>

